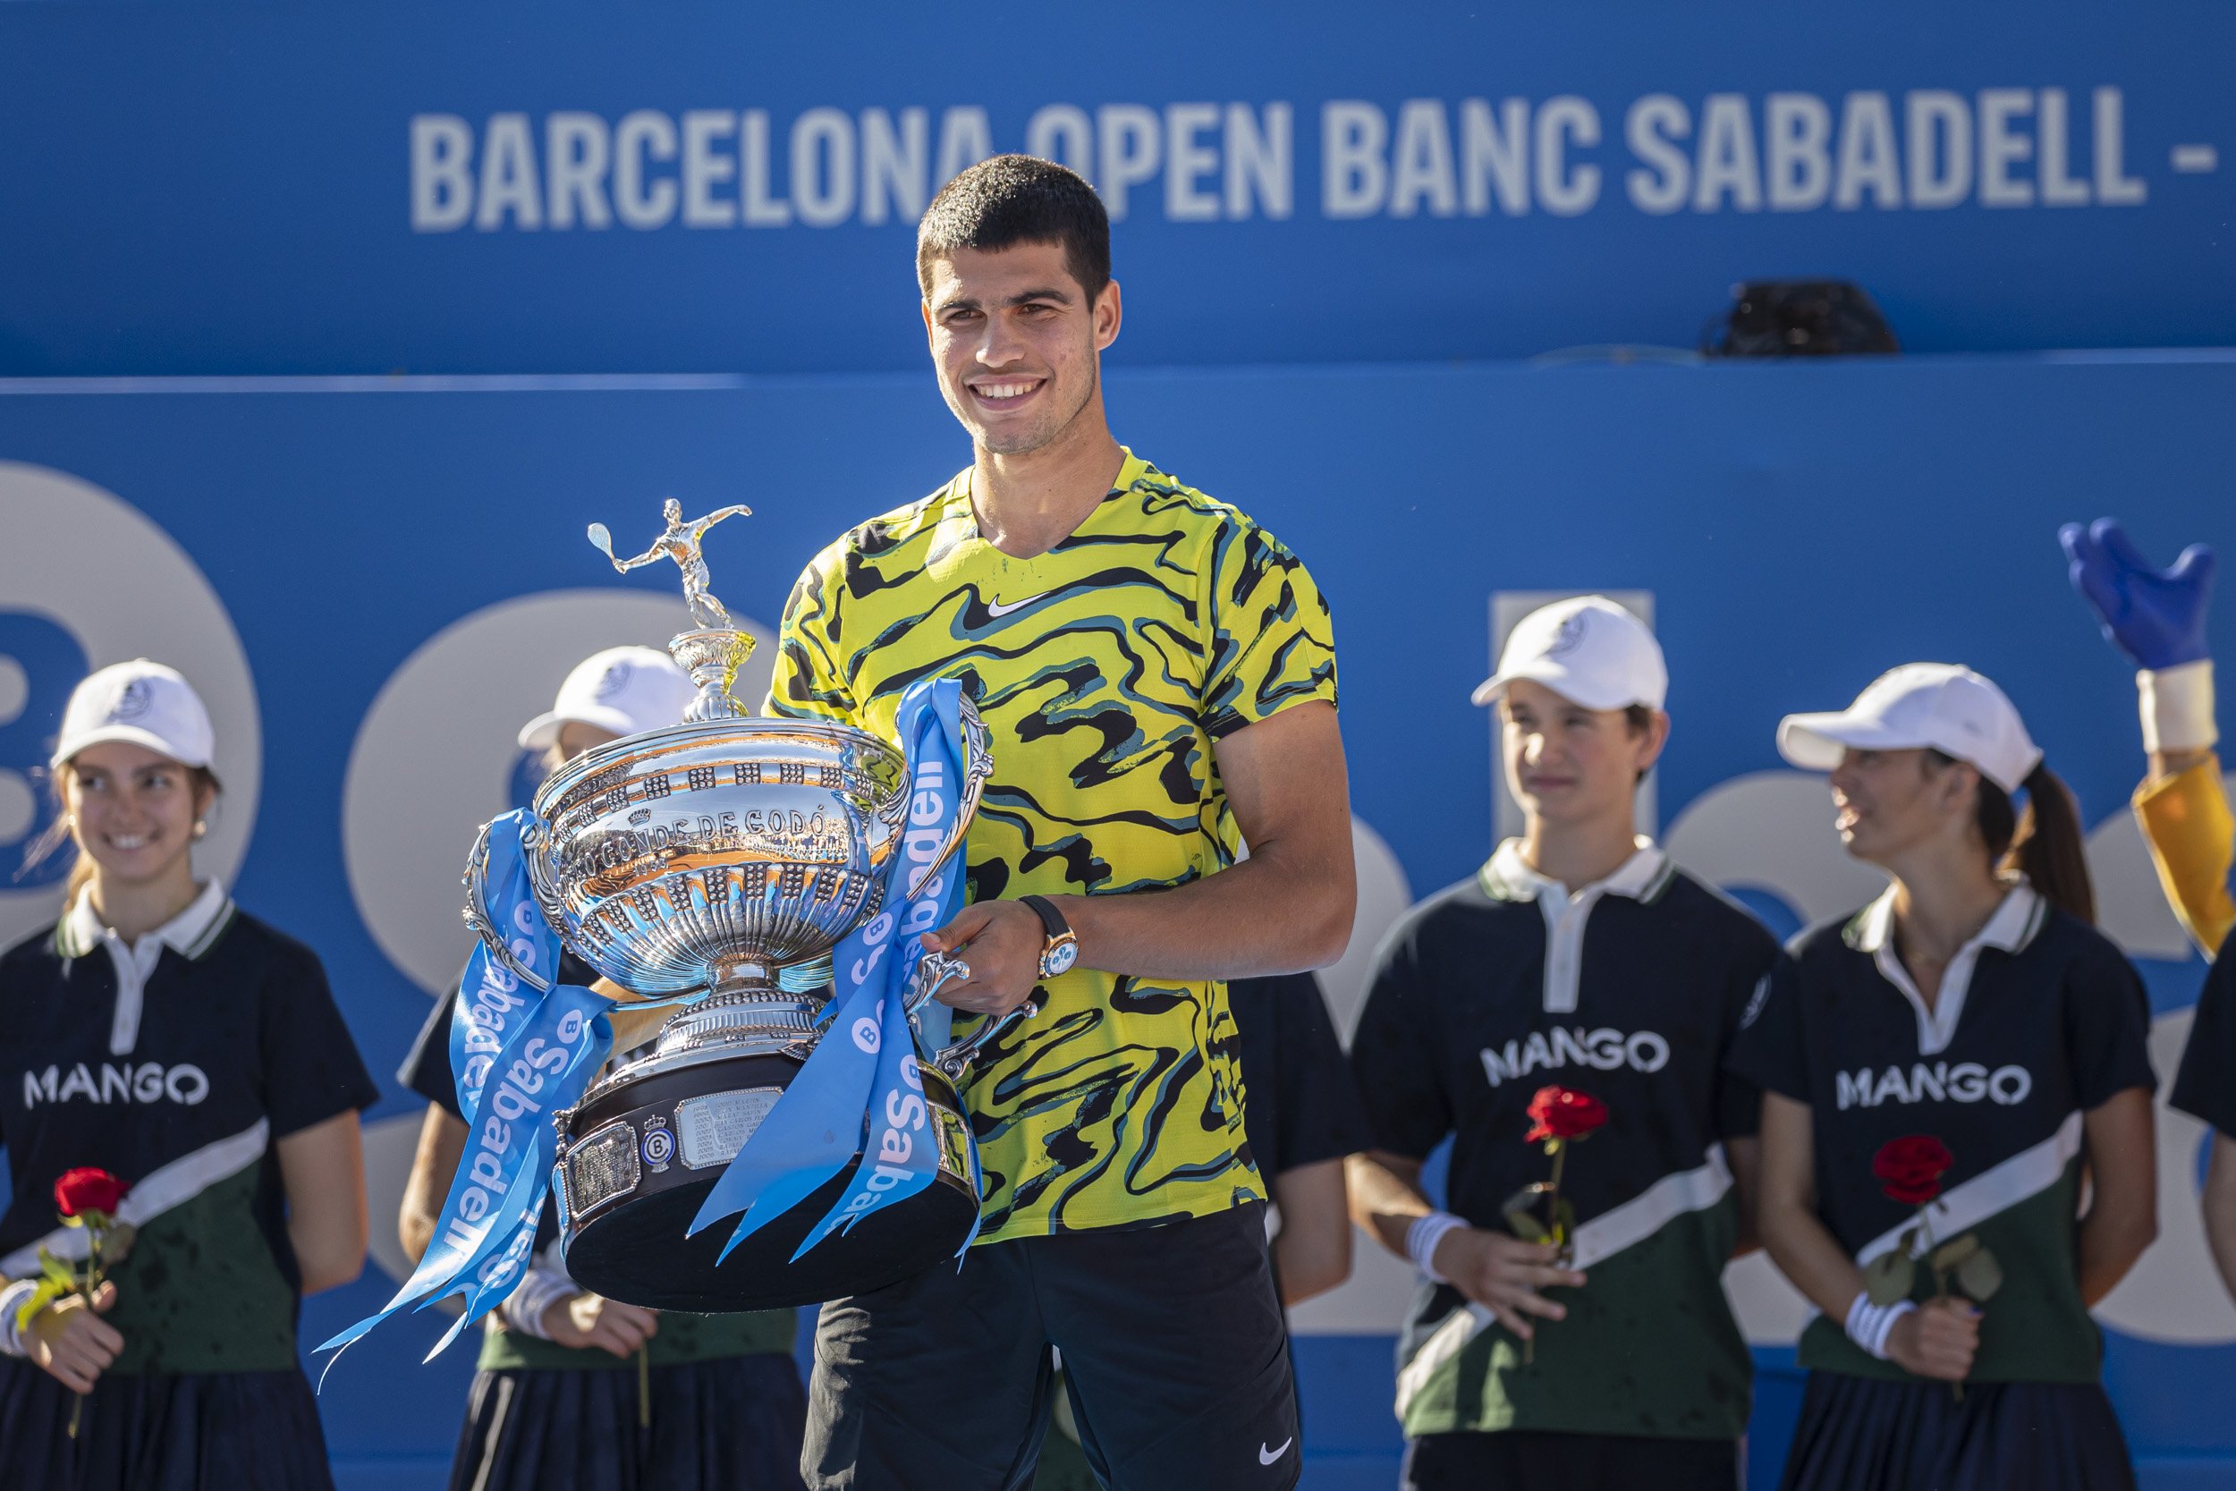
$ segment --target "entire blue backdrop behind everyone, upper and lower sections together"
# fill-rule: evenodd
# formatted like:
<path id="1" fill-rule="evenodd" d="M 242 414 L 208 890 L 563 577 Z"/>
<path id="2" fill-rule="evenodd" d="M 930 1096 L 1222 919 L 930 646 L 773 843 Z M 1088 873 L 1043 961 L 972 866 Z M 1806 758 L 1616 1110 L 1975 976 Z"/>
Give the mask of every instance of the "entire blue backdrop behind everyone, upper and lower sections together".
<path id="1" fill-rule="evenodd" d="M 385 1073 L 463 955 L 461 825 L 519 791 L 510 729 L 680 610 L 584 525 L 751 503 L 716 581 L 774 621 L 816 545 L 964 463 L 910 224 L 1035 150 L 1118 219 L 1120 438 L 1337 608 L 1375 914 L 1487 849 L 1498 597 L 1637 592 L 1675 675 L 1659 818 L 1778 923 L 1860 894 L 1775 718 L 1907 657 L 2001 680 L 2100 825 L 2164 1057 L 2202 963 L 2124 825 L 2131 684 L 2053 530 L 2236 552 L 2232 56 L 2200 0 L 0 4 L 0 861 L 78 673 L 181 662 L 224 733 L 208 858 L 320 948 Z M 1930 355 L 1520 362 L 1688 346 L 1773 275 L 1863 282 Z M 0 883 L 0 937 L 51 894 Z M 394 1086 L 371 1115 L 376 1209 L 414 1115 Z M 2236 1487 L 2236 1308 L 2196 1129 L 2164 1136 L 2106 1379 L 2153 1491 Z M 1313 1491 L 1391 1484 L 1391 1267 L 1301 1317 Z M 387 1290 L 311 1301 L 306 1339 Z M 1766 1484 L 1791 1301 L 1735 1294 Z M 362 1343 L 322 1402 L 353 1491 L 440 1484 L 470 1364 L 425 1339 Z"/>

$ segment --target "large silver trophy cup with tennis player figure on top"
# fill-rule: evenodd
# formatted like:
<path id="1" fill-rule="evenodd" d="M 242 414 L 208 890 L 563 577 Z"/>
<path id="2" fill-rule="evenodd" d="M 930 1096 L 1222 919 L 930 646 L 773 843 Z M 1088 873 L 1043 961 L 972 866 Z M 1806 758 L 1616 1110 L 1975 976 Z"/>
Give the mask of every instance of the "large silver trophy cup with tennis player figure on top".
<path id="1" fill-rule="evenodd" d="M 751 718 L 731 686 L 754 637 L 729 624 L 707 588 L 700 541 L 745 507 L 666 530 L 615 559 L 604 525 L 590 541 L 633 570 L 673 559 L 695 630 L 669 653 L 698 684 L 684 722 L 608 742 L 563 765 L 532 803 L 523 856 L 534 899 L 559 941 L 624 990 L 689 997 L 651 1042 L 555 1115 L 568 1272 L 608 1299 L 666 1310 L 765 1310 L 836 1299 L 906 1279 L 950 1256 L 977 1216 L 966 1120 L 955 1084 L 1008 1022 L 923 1053 L 939 1138 L 939 1183 L 885 1207 L 798 1263 L 792 1252 L 823 1218 L 852 1167 L 760 1227 L 716 1267 L 729 1227 L 684 1232 L 722 1167 L 814 1051 L 830 997 L 830 950 L 879 912 L 885 863 L 908 814 L 897 749 L 865 731 Z M 961 849 L 993 762 L 986 726 L 964 697 L 964 785 L 955 829 L 935 865 Z M 485 903 L 487 832 L 467 861 L 465 919 L 530 986 Z M 950 979 L 959 959 L 926 957 L 908 1010 Z M 626 1006 L 624 1006 L 626 1008 Z M 1031 1013 L 1035 1006 L 1024 1006 Z"/>

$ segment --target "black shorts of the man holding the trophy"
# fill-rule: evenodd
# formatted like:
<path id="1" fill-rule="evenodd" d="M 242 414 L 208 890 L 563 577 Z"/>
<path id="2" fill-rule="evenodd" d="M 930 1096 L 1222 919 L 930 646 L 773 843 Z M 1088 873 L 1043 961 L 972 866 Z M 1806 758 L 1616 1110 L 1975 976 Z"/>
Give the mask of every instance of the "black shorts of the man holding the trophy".
<path id="1" fill-rule="evenodd" d="M 1288 1491 L 1304 1457 L 1266 1212 L 973 1247 L 823 1305 L 800 1471 L 818 1491 L 1015 1491 L 1064 1357 L 1116 1491 Z"/>

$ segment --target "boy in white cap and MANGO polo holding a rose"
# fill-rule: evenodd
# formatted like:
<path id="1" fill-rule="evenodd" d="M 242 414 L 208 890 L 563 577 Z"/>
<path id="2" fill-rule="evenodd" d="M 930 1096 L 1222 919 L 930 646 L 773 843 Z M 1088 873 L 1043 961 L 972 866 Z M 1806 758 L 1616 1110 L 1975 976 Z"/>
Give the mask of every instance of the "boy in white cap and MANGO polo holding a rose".
<path id="1" fill-rule="evenodd" d="M 1353 1216 L 1424 1274 L 1398 1370 L 1418 1491 L 1737 1482 L 1751 1361 L 1722 1270 L 1757 1098 L 1719 1066 L 1778 943 L 1637 836 L 1666 691 L 1661 648 L 1614 601 L 1514 628 L 1476 702 L 1500 704 L 1525 836 L 1398 923 L 1359 1019 L 1377 1147 L 1351 1162 Z M 1503 1218 L 1547 1178 L 1523 1136 L 1552 1084 L 1608 1109 L 1565 1162 L 1565 1256 Z M 1447 1136 L 1436 1212 L 1420 1167 Z"/>

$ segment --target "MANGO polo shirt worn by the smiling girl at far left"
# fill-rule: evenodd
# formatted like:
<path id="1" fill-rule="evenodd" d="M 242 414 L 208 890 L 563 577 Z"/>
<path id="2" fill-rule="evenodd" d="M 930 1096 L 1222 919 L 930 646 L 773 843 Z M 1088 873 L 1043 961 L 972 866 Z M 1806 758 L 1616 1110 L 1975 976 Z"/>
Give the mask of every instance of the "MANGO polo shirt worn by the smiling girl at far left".
<path id="1" fill-rule="evenodd" d="M 36 1274 L 40 1245 L 83 1259 L 54 1183 L 107 1169 L 136 1227 L 110 1370 L 288 1370 L 302 1276 L 277 1145 L 378 1095 L 318 955 L 221 887 L 136 948 L 80 903 L 0 957 L 0 1272 Z"/>

